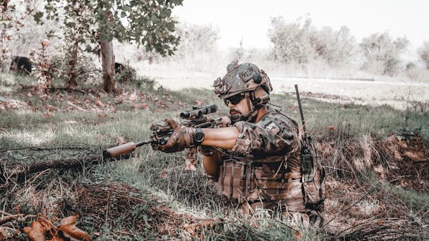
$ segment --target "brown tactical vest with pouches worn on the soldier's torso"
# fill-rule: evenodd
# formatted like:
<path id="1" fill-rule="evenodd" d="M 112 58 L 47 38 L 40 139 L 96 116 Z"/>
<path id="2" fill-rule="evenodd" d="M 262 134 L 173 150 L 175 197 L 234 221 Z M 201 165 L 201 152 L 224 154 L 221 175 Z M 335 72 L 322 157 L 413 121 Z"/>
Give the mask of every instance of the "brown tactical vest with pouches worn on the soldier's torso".
<path id="1" fill-rule="evenodd" d="M 298 132 L 297 124 L 293 123 Z M 239 203 L 280 201 L 288 211 L 304 212 L 306 198 L 303 195 L 300 154 L 301 145 L 297 142 L 286 156 L 237 158 L 223 155 L 218 193 Z"/>

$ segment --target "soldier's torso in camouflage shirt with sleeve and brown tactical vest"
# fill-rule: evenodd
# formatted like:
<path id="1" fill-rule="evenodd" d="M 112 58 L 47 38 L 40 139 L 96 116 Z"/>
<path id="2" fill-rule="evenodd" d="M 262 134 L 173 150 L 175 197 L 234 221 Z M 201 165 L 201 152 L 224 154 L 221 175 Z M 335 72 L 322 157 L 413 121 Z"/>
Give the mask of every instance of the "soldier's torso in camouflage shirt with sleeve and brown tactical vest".
<path id="1" fill-rule="evenodd" d="M 301 211 L 301 163 L 298 125 L 269 108 L 258 123 L 235 123 L 239 136 L 230 155 L 223 155 L 219 194 L 244 201 L 283 200 Z"/>

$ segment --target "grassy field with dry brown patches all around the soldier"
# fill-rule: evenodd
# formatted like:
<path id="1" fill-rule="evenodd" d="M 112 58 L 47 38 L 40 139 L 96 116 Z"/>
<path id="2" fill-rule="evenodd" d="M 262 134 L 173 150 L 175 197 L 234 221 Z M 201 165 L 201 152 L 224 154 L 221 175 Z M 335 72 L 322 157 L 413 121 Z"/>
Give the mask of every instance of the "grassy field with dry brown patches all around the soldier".
<path id="1" fill-rule="evenodd" d="M 76 214 L 77 227 L 93 240 L 429 238 L 427 83 L 272 77 L 272 103 L 296 120 L 292 92 L 299 81 L 308 129 L 328 171 L 325 226 L 299 231 L 275 213 L 237 214 L 201 167 L 184 169 L 183 153 L 143 146 L 103 160 L 106 146 L 146 139 L 152 123 L 179 121 L 179 111 L 192 105 L 215 103 L 214 116 L 227 114 L 210 90 L 210 72 L 141 71 L 150 77 L 120 84 L 116 96 L 91 83 L 41 94 L 37 79 L 0 74 L 3 238 L 26 240 L 24 227 L 33 220 L 57 227 Z M 62 166 L 30 173 L 34 163 L 53 160 Z"/>

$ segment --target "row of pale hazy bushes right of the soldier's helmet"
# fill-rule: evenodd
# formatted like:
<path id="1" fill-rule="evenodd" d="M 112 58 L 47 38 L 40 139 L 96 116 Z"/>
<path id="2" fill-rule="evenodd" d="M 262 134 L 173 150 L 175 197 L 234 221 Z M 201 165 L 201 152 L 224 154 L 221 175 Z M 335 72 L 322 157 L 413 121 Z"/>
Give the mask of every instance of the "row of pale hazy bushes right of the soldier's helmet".
<path id="1" fill-rule="evenodd" d="M 360 54 L 362 70 L 392 76 L 401 69 L 400 55 L 410 45 L 406 36 L 392 39 L 388 32 L 371 34 L 357 43 L 347 27 L 337 31 L 330 27 L 317 29 L 310 19 L 286 23 L 276 17 L 271 24 L 268 35 L 274 44 L 272 58 L 283 63 L 316 60 L 337 67 L 356 60 Z M 420 61 L 429 69 L 429 43 L 418 51 Z"/>

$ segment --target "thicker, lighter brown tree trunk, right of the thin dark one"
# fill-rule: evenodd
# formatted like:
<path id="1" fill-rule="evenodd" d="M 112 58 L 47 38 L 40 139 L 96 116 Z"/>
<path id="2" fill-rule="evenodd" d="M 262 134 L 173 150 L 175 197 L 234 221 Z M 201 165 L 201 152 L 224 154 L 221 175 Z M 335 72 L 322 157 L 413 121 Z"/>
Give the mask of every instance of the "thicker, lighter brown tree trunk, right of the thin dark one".
<path id="1" fill-rule="evenodd" d="M 114 55 L 112 41 L 100 41 L 101 60 L 103 63 L 103 88 L 114 92 Z"/>

